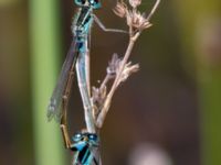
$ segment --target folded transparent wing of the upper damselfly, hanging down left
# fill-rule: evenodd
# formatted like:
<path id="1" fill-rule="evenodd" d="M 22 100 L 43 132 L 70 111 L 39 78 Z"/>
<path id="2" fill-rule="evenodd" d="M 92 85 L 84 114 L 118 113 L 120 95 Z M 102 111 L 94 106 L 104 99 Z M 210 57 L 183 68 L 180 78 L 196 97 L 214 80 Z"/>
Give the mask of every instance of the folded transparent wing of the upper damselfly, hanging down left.
<path id="1" fill-rule="evenodd" d="M 56 121 L 61 120 L 62 116 L 62 97 L 66 87 L 66 82 L 69 79 L 69 74 L 72 68 L 72 65 L 75 65 L 77 53 L 76 53 L 76 42 L 75 40 L 72 41 L 71 47 L 69 50 L 69 53 L 66 55 L 66 58 L 64 61 L 64 64 L 62 66 L 62 70 L 60 73 L 59 80 L 56 82 L 56 86 L 53 90 L 52 97 L 50 99 L 49 106 L 48 106 L 48 120 L 51 121 L 53 118 Z"/>

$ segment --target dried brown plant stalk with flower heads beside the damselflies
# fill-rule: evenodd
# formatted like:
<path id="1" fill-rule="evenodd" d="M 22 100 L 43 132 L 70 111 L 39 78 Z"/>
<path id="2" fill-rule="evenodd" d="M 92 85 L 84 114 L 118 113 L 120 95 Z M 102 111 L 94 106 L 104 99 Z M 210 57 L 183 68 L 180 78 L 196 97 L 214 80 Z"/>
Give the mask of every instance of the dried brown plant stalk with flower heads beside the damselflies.
<path id="1" fill-rule="evenodd" d="M 114 13 L 119 18 L 126 19 L 128 25 L 129 42 L 123 59 L 117 54 L 113 55 L 112 61 L 107 67 L 107 75 L 104 78 L 99 88 L 93 87 L 92 102 L 93 102 L 93 114 L 97 129 L 103 127 L 106 114 L 109 110 L 113 96 L 117 90 L 120 82 L 125 81 L 133 73 L 139 69 L 139 65 L 131 65 L 128 63 L 129 56 L 136 41 L 138 40 L 141 32 L 151 26 L 149 22 L 158 8 L 160 0 L 157 0 L 146 16 L 146 13 L 140 13 L 137 8 L 140 6 L 141 0 L 129 0 L 129 6 L 120 0 L 117 2 Z M 107 84 L 114 79 L 114 82 L 107 92 Z"/>

